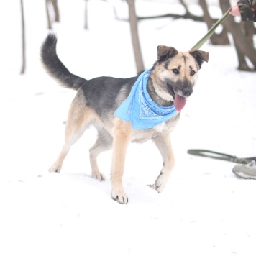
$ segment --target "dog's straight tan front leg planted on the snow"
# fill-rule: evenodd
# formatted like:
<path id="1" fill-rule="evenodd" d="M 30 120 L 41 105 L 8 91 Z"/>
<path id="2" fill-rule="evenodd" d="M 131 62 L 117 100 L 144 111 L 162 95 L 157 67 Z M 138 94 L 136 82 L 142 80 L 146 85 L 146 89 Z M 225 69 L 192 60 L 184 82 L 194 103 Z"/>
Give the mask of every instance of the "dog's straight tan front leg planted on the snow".
<path id="1" fill-rule="evenodd" d="M 124 163 L 127 147 L 131 140 L 132 126 L 129 122 L 116 120 L 113 136 L 113 162 L 111 171 L 111 197 L 120 204 L 127 204 L 128 197 L 124 192 L 122 178 L 124 174 Z"/>

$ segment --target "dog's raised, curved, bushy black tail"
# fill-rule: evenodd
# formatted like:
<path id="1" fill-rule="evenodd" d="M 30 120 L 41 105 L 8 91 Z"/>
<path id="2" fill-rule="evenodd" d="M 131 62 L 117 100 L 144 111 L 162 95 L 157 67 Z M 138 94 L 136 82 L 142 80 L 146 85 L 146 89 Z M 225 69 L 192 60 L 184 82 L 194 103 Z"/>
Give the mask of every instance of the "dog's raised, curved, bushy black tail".
<path id="1" fill-rule="evenodd" d="M 50 76 L 60 81 L 61 85 L 66 88 L 78 90 L 86 79 L 73 75 L 68 68 L 58 58 L 56 53 L 57 37 L 49 34 L 41 47 L 42 63 Z"/>

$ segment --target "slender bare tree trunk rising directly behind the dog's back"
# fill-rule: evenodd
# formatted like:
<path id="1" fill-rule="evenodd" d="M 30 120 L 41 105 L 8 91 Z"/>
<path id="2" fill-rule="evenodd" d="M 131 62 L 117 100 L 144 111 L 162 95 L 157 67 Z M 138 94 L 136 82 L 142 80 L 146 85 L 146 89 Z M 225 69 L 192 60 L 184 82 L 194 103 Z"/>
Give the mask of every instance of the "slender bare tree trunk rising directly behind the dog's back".
<path id="1" fill-rule="evenodd" d="M 140 40 L 137 28 L 137 15 L 134 0 L 127 0 L 127 4 L 129 6 L 129 25 L 132 35 L 134 58 L 136 62 L 137 73 L 140 73 L 141 71 L 145 70 L 145 68 L 142 60 L 142 52 L 140 50 Z"/>

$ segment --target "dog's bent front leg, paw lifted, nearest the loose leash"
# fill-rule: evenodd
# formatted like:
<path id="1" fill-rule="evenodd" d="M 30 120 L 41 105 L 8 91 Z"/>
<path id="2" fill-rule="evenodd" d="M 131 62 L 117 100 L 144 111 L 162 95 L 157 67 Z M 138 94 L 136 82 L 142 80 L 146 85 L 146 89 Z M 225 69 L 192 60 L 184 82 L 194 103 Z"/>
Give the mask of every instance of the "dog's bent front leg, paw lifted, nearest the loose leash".
<path id="1" fill-rule="evenodd" d="M 155 180 L 155 190 L 160 193 L 168 182 L 168 178 L 175 164 L 175 159 L 170 142 L 170 134 L 161 134 L 160 136 L 155 137 L 153 141 L 163 157 L 163 168 L 160 175 Z"/>

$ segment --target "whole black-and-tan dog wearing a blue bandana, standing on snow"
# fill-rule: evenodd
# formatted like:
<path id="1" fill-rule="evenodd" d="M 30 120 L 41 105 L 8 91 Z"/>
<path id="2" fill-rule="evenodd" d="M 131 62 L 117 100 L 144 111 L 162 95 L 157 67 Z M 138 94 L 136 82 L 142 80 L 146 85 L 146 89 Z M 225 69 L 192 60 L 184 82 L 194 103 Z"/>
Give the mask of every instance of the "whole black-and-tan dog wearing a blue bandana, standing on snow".
<path id="1" fill-rule="evenodd" d="M 178 123 L 186 99 L 193 93 L 198 70 L 204 62 L 208 62 L 209 52 L 178 52 L 174 47 L 159 45 L 157 60 L 147 70 L 147 77 L 142 78 L 143 86 L 137 89 L 137 94 L 131 96 L 135 83 L 140 76 L 144 76 L 143 73 L 132 78 L 97 77 L 86 80 L 69 72 L 58 58 L 56 45 L 57 37 L 52 33 L 42 43 L 41 59 L 45 70 L 62 86 L 72 88 L 77 93 L 68 111 L 65 143 L 49 171 L 60 172 L 70 147 L 92 124 L 98 130 L 98 137 L 89 150 L 91 176 L 100 181 L 105 179 L 97 165 L 97 157 L 101 152 L 112 149 L 111 198 L 120 204 L 128 203 L 122 184 L 127 147 L 130 142 L 143 143 L 150 139 L 155 142 L 163 157 L 163 168 L 154 185 L 158 193 L 162 192 L 175 163 L 170 132 Z M 143 93 L 147 93 L 147 99 L 143 99 Z M 124 108 L 119 111 L 129 98 L 132 101 L 127 103 L 128 110 Z M 153 106 L 147 106 L 145 101 Z M 166 109 L 170 109 L 167 115 L 163 113 Z M 118 111 L 121 112 L 121 117 Z M 122 111 L 132 117 L 122 118 Z M 138 111 L 142 112 L 138 114 Z M 153 123 L 145 124 L 148 121 Z"/>

